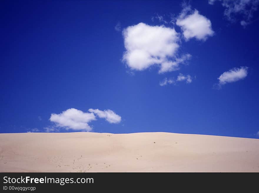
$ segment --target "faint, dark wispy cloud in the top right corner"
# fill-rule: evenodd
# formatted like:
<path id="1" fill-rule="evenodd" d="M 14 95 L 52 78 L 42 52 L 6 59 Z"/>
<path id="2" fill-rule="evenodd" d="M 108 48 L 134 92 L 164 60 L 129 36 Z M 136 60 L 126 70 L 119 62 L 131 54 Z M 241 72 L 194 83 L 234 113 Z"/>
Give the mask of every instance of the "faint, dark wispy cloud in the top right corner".
<path id="1" fill-rule="evenodd" d="M 209 4 L 213 5 L 215 1 L 220 1 L 225 8 L 224 15 L 228 21 L 234 23 L 241 16 L 243 19 L 240 24 L 243 27 L 251 23 L 259 5 L 259 0 L 209 0 Z"/>

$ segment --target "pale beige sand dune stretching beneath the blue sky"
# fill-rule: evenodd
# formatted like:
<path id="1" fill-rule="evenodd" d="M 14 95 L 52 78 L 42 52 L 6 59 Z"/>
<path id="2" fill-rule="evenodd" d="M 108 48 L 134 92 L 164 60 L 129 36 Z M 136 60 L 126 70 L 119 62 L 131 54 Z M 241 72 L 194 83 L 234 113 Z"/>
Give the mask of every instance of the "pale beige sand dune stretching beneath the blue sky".
<path id="1" fill-rule="evenodd" d="M 0 134 L 0 172 L 259 172 L 259 140 L 164 132 Z"/>

